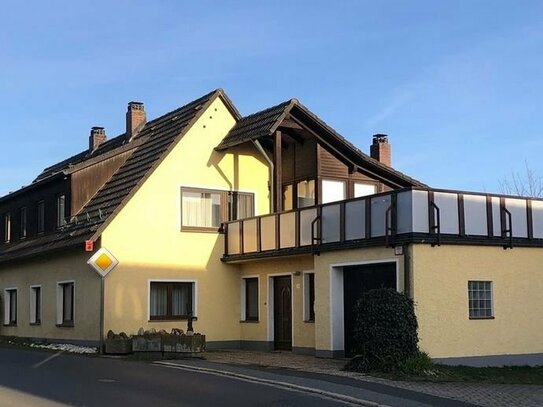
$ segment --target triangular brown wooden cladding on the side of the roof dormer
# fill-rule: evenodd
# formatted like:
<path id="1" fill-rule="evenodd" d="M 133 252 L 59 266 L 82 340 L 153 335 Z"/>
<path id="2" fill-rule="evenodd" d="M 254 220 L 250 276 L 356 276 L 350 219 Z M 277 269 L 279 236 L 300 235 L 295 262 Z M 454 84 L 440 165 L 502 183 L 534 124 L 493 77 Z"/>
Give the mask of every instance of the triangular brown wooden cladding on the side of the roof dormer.
<path id="1" fill-rule="evenodd" d="M 132 151 L 84 167 L 71 175 L 71 213 L 75 215 L 125 163 Z"/>

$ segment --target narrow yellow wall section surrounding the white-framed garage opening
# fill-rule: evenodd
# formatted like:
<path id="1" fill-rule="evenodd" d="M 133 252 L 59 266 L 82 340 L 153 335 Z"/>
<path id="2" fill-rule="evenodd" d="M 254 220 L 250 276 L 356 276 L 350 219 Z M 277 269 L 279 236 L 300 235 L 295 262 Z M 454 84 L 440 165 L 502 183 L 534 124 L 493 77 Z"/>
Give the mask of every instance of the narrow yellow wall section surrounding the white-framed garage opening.
<path id="1" fill-rule="evenodd" d="M 330 315 L 330 270 L 333 266 L 364 262 L 398 261 L 399 290 L 404 287 L 403 256 L 395 256 L 394 249 L 385 247 L 323 252 L 315 256 L 315 345 L 317 350 L 332 349 Z M 343 289 L 343 287 L 341 288 Z"/>

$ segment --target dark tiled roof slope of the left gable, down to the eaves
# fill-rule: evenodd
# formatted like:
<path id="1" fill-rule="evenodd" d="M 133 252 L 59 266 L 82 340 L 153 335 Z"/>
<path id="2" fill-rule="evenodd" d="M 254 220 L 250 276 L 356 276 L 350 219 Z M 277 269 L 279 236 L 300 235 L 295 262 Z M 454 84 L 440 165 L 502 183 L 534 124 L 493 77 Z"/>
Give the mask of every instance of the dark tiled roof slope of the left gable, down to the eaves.
<path id="1" fill-rule="evenodd" d="M 83 247 L 85 240 L 97 239 L 101 228 L 113 219 L 169 149 L 183 137 L 199 113 L 218 96 L 229 103 L 222 90 L 216 90 L 148 122 L 132 141 L 140 145 L 68 225 L 54 234 L 0 247 L 0 263 L 75 245 Z"/>

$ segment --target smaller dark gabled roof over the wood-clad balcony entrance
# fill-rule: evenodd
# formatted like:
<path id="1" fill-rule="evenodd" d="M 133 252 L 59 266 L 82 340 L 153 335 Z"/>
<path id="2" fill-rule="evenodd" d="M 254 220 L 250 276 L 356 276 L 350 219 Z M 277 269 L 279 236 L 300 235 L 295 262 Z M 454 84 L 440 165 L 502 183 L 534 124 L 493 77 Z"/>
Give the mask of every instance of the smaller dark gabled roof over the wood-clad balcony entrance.
<path id="1" fill-rule="evenodd" d="M 289 113 L 294 116 L 298 115 L 305 120 L 310 120 L 312 123 L 316 124 L 319 129 L 324 130 L 324 132 L 320 131 L 319 133 L 326 134 L 330 141 L 341 144 L 341 146 L 349 153 L 350 158 L 360 167 L 375 168 L 383 173 L 385 178 L 388 175 L 389 177 L 398 179 L 402 184 L 401 186 L 427 186 L 363 153 L 354 144 L 347 141 L 347 139 L 326 124 L 324 120 L 302 105 L 297 99 L 291 99 L 280 103 L 277 106 L 242 118 L 228 132 L 216 149 L 221 151 L 251 140 L 271 136 Z"/>

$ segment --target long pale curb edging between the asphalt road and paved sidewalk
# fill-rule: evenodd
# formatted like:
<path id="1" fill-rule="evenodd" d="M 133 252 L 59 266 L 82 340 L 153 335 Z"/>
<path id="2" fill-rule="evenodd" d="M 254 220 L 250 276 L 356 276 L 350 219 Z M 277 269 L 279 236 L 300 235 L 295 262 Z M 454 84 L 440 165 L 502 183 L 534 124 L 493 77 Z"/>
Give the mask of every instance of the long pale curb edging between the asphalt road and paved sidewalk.
<path id="1" fill-rule="evenodd" d="M 274 380 L 247 376 L 241 373 L 235 373 L 235 372 L 230 372 L 230 371 L 225 371 L 225 370 L 210 369 L 206 367 L 196 367 L 196 366 L 191 366 L 191 365 L 182 365 L 178 363 L 162 362 L 162 361 L 153 362 L 153 364 L 157 366 L 164 366 L 164 367 L 169 367 L 169 368 L 179 369 L 179 370 L 188 370 L 188 371 L 194 371 L 194 372 L 200 372 L 200 373 L 214 374 L 214 375 L 223 376 L 223 377 L 233 377 L 235 379 L 239 379 L 239 380 L 243 380 L 243 381 L 247 381 L 251 383 L 260 383 L 260 384 L 265 384 L 267 386 L 280 387 L 280 388 L 295 390 L 295 391 L 299 391 L 303 393 L 317 394 L 317 395 L 327 397 L 330 399 L 342 401 L 345 403 L 355 404 L 355 405 L 359 405 L 363 407 L 390 407 L 386 404 L 379 404 L 379 403 L 375 403 L 369 400 L 358 399 L 356 397 L 346 396 L 340 393 L 333 393 L 326 390 L 300 386 L 298 384 L 292 384 L 288 382 L 277 382 Z"/>

